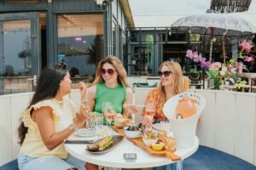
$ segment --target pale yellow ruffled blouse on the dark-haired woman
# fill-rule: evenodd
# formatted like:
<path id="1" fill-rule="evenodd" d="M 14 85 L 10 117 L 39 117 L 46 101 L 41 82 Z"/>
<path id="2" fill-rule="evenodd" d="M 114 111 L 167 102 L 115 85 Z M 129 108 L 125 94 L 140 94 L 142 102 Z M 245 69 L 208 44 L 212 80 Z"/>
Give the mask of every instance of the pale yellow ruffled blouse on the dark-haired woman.
<path id="1" fill-rule="evenodd" d="M 77 109 L 71 99 L 67 96 L 63 97 L 62 101 L 55 98 L 46 99 L 32 105 L 27 109 L 21 118 L 25 127 L 28 127 L 26 138 L 20 147 L 20 153 L 32 157 L 40 156 L 58 156 L 61 158 L 67 158 L 67 151 L 64 148 L 64 144 L 60 144 L 54 150 L 48 150 L 45 146 L 36 122 L 32 121 L 31 111 L 32 109 L 38 110 L 41 107 L 49 106 L 52 109 L 52 115 L 55 123 L 55 132 L 60 132 L 67 128 L 72 122 Z"/>

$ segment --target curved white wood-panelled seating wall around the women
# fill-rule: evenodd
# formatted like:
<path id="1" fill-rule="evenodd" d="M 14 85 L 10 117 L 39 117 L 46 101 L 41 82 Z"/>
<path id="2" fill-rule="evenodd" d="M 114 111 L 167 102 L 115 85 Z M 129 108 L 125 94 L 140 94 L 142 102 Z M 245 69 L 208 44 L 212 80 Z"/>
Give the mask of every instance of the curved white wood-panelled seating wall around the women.
<path id="1" fill-rule="evenodd" d="M 137 105 L 143 105 L 149 90 L 136 88 Z M 200 143 L 256 165 L 256 94 L 219 90 L 196 90 L 196 93 L 206 99 L 197 127 Z M 17 127 L 31 98 L 32 93 L 0 96 L 0 166 L 18 155 Z M 73 90 L 70 98 L 79 105 L 78 90 Z M 137 114 L 137 122 L 140 119 Z"/>

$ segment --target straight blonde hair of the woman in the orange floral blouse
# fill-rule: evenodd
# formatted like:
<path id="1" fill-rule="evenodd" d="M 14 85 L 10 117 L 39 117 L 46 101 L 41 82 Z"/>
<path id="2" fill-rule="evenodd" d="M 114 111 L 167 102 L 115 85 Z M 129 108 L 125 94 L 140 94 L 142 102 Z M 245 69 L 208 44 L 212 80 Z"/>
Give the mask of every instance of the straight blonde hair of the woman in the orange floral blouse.
<path id="1" fill-rule="evenodd" d="M 172 94 L 176 95 L 183 93 L 183 71 L 181 69 L 181 66 L 177 62 L 165 61 L 160 65 L 159 71 L 165 65 L 170 69 L 170 71 L 172 71 L 172 77 L 174 79 L 172 82 Z M 160 82 L 158 88 L 160 90 L 161 97 L 166 100 L 166 92 L 165 88 L 162 85 L 162 82 Z"/>

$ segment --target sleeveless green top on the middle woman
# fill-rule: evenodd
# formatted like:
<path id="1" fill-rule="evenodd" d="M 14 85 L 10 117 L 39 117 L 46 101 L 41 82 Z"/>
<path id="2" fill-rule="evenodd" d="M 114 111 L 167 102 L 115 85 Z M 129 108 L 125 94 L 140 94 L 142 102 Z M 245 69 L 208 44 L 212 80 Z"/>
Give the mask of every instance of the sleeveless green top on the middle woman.
<path id="1" fill-rule="evenodd" d="M 115 88 L 108 88 L 105 85 L 105 82 L 101 82 L 96 85 L 94 111 L 102 113 L 102 104 L 104 102 L 110 102 L 114 107 L 114 111 L 123 114 L 123 104 L 125 99 L 126 90 L 122 84 L 117 85 Z"/>

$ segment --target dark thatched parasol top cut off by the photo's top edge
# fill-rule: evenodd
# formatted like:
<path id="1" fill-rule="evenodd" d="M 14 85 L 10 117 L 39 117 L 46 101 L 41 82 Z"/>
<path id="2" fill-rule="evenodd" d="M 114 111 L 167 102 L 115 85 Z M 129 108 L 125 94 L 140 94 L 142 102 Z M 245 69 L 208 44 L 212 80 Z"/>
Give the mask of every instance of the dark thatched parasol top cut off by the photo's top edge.
<path id="1" fill-rule="evenodd" d="M 252 0 L 212 0 L 211 9 L 220 13 L 247 11 Z"/>

